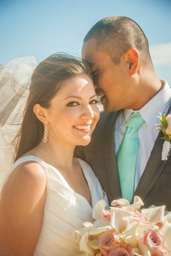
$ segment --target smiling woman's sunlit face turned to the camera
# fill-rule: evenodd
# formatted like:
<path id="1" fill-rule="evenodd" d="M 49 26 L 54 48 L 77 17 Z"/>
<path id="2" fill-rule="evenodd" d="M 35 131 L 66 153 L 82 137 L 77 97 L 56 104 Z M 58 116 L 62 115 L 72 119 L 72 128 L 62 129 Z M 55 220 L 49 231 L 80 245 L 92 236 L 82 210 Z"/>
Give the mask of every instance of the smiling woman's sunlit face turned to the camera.
<path id="1" fill-rule="evenodd" d="M 67 80 L 47 110 L 48 141 L 87 145 L 99 120 L 93 82 L 84 75 Z"/>

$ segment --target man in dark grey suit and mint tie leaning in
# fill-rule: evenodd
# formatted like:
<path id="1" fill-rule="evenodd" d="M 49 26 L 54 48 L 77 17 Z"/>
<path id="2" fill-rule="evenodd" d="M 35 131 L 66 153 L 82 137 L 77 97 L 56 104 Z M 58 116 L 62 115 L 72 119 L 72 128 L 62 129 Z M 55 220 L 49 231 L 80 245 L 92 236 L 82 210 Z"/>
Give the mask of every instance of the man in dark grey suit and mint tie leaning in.
<path id="1" fill-rule="evenodd" d="M 171 211 L 171 150 L 161 160 L 163 133 L 155 126 L 161 124 L 159 112 L 170 113 L 171 89 L 155 74 L 145 34 L 127 17 L 103 18 L 85 36 L 82 58 L 91 66 L 105 112 L 90 144 L 78 146 L 75 157 L 91 165 L 109 202 L 129 194 L 130 202 L 139 196 L 145 207 L 165 205 Z M 128 117 L 135 113 L 143 119 L 137 151 L 128 142 L 129 134 L 126 139 Z M 127 146 L 120 154 L 124 136 Z"/>

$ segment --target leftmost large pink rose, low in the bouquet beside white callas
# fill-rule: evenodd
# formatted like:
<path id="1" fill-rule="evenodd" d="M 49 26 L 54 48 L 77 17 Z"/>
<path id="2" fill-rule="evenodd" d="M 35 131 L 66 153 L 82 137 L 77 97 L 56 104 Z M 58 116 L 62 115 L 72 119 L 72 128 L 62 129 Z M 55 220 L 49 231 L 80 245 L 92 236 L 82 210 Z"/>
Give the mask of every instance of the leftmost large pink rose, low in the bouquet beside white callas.
<path id="1" fill-rule="evenodd" d="M 99 235 L 97 238 L 97 244 L 101 252 L 105 255 L 108 255 L 109 250 L 111 249 L 111 244 L 115 242 L 114 238 L 114 229 L 107 230 Z"/>

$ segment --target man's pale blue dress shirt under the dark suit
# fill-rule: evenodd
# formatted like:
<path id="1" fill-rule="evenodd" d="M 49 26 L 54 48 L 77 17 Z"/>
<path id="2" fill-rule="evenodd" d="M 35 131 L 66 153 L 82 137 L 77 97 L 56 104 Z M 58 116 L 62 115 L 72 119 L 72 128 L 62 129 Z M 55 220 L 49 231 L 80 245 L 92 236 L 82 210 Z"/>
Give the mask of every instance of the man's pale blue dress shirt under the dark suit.
<path id="1" fill-rule="evenodd" d="M 124 109 L 123 112 L 121 112 L 121 114 L 117 118 L 116 122 L 115 152 L 117 155 L 117 151 L 119 149 L 123 135 L 126 130 L 125 121 L 127 120 L 128 116 L 132 112 L 139 112 L 143 119 L 145 120 L 145 123 L 138 130 L 139 148 L 135 167 L 134 190 L 136 189 L 138 182 L 141 178 L 141 175 L 143 174 L 143 171 L 151 154 L 151 150 L 153 149 L 155 140 L 159 133 L 159 130 L 155 130 L 155 124 L 161 123 L 157 116 L 159 116 L 159 112 L 163 113 L 163 115 L 166 116 L 166 113 L 171 104 L 171 88 L 169 87 L 166 81 L 161 81 L 164 82 L 163 89 L 160 92 L 158 92 L 158 94 L 156 94 L 145 106 L 143 106 L 143 108 L 136 111 L 131 109 Z"/>

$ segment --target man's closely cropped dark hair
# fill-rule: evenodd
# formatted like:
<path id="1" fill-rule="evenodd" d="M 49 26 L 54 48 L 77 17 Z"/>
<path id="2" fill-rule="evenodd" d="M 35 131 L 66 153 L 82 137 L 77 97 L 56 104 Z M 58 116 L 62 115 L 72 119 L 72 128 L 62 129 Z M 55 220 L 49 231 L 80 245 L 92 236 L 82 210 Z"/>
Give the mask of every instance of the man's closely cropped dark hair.
<path id="1" fill-rule="evenodd" d="M 128 48 L 136 48 L 144 64 L 152 64 L 148 40 L 140 26 L 125 16 L 109 16 L 99 20 L 87 33 L 84 42 L 96 39 L 97 50 L 106 52 L 115 64 Z"/>

